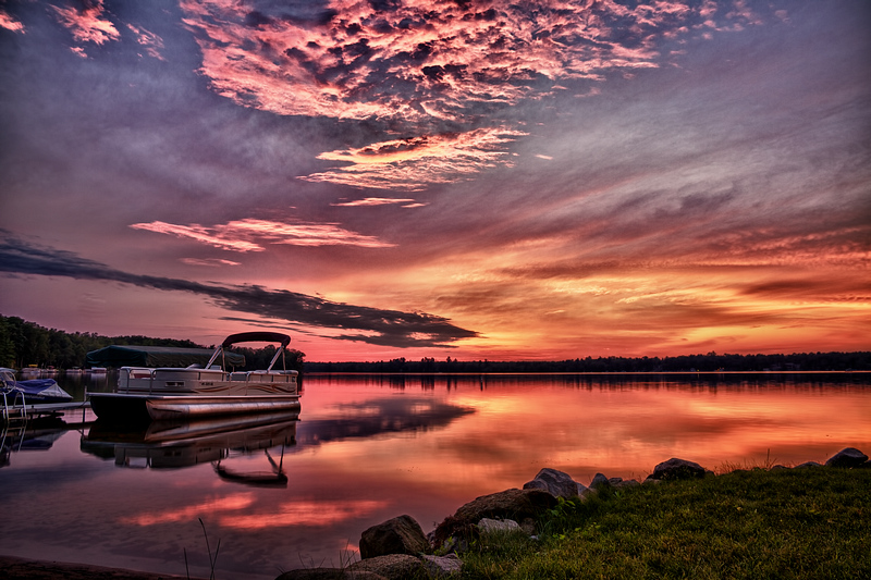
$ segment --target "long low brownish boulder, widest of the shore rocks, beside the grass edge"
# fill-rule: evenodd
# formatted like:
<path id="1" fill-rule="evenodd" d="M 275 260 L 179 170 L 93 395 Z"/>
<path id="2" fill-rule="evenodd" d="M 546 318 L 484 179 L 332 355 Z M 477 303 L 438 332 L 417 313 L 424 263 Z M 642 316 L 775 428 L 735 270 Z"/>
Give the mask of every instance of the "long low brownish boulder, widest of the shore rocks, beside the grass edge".
<path id="1" fill-rule="evenodd" d="M 475 523 L 482 518 L 507 518 L 523 520 L 536 518 L 545 509 L 556 505 L 556 497 L 541 490 L 505 490 L 476 497 L 449 516 L 436 528 L 432 538 L 437 546 L 458 533 L 474 533 L 477 531 Z"/>

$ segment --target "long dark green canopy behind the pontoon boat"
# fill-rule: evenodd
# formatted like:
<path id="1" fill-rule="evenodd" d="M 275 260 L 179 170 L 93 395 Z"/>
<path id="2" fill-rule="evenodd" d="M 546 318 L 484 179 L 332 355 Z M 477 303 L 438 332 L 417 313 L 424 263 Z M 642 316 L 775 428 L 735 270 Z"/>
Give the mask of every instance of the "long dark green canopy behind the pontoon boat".
<path id="1" fill-rule="evenodd" d="M 180 348 L 175 346 L 110 345 L 88 353 L 88 367 L 175 367 L 206 366 L 214 350 L 209 348 Z M 230 367 L 244 367 L 245 356 L 224 350 Z M 220 357 L 216 363 L 220 362 Z"/>

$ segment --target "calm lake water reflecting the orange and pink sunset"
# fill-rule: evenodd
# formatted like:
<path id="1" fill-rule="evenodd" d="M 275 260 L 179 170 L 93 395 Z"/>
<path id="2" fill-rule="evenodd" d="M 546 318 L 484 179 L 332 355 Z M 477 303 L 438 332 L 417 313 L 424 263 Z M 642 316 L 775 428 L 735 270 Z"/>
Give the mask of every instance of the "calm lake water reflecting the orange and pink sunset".
<path id="1" fill-rule="evenodd" d="M 79 398 L 112 381 L 59 380 Z M 207 534 L 212 552 L 220 541 L 217 578 L 273 579 L 358 559 L 360 533 L 402 514 L 429 532 L 543 467 L 587 484 L 597 472 L 641 480 L 670 457 L 722 471 L 871 453 L 869 373 L 306 375 L 303 386 L 298 421 L 211 435 L 115 433 L 89 411 L 61 429 L 7 430 L 0 554 L 181 576 L 187 559 L 208 577 Z"/>

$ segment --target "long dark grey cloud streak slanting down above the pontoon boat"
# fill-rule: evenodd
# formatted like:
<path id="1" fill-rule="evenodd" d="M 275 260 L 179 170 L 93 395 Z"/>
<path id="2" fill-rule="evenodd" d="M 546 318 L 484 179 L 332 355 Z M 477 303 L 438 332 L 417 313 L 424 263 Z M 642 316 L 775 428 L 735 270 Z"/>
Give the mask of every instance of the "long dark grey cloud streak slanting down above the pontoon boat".
<path id="1" fill-rule="evenodd" d="M 68 276 L 76 280 L 105 280 L 162 291 L 191 292 L 208 296 L 228 310 L 283 319 L 289 322 L 327 329 L 356 330 L 361 333 L 340 338 L 381 346 L 449 346 L 461 338 L 477 336 L 455 326 L 447 319 L 424 312 L 381 310 L 333 303 L 290 291 L 257 285 L 217 286 L 186 280 L 131 274 L 74 252 L 36 247 L 5 235 L 0 242 L 0 271 L 12 274 Z M 373 333 L 373 334 L 368 334 Z"/>

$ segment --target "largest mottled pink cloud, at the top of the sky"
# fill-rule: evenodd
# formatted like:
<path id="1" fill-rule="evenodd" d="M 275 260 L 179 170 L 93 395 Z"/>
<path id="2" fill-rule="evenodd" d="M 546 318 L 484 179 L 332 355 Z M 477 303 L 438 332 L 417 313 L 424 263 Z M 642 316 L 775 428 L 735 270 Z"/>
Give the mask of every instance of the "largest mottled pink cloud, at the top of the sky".
<path id="1" fill-rule="evenodd" d="M 182 2 L 220 94 L 279 114 L 458 120 L 476 103 L 517 102 L 567 78 L 657 66 L 655 42 L 702 10 L 677 2 L 629 9 L 540 2 L 475 8 L 408 1 L 389 11 L 334 1 L 328 22 L 284 17 L 250 2 Z M 271 12 L 271 13 L 270 13 Z M 253 26 L 249 17 L 260 18 Z M 626 30 L 629 41 L 623 40 Z M 623 42 L 623 44 L 622 44 Z M 381 83 L 388 77 L 394 82 Z M 406 95 L 395 82 L 414 86 Z"/>

